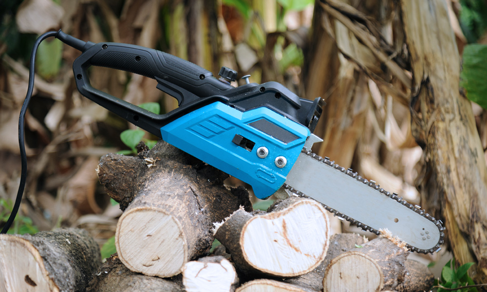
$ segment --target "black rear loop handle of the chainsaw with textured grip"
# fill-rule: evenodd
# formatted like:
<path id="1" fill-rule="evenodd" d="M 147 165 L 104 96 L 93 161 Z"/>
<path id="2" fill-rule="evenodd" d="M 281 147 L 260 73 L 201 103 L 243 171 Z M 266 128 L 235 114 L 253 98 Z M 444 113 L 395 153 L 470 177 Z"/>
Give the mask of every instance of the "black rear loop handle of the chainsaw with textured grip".
<path id="1" fill-rule="evenodd" d="M 118 69 L 156 79 L 159 83 L 157 88 L 177 98 L 179 108 L 156 115 L 94 89 L 88 76 L 88 68 L 91 66 Z M 213 77 L 211 72 L 189 61 L 154 49 L 122 43 L 92 44 L 75 60 L 73 72 L 76 87 L 82 95 L 158 137 L 161 137 L 160 128 L 173 120 L 175 114 L 206 102 L 207 97 L 218 96 L 222 91 L 233 89 Z"/>

